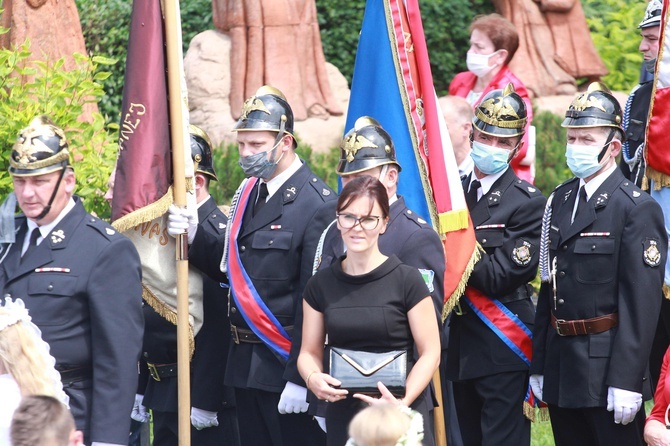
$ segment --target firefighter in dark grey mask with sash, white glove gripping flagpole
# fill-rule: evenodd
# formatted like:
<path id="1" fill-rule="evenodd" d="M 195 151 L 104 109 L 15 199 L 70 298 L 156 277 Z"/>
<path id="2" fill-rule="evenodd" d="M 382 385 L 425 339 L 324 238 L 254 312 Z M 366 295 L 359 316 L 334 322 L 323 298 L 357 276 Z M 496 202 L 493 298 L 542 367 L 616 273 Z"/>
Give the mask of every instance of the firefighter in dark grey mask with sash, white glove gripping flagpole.
<path id="1" fill-rule="evenodd" d="M 225 383 L 235 389 L 242 445 L 325 444 L 306 413 L 305 384 L 286 361 L 318 242 L 308 233 L 325 229 L 332 216 L 324 204 L 336 196 L 296 155 L 293 113 L 276 88 L 249 98 L 233 131 L 248 178 L 231 204 L 231 235 L 197 230 L 196 216 L 179 210 L 169 232 L 186 230 L 191 263 L 231 285 Z M 298 380 L 287 382 L 285 372 Z"/>

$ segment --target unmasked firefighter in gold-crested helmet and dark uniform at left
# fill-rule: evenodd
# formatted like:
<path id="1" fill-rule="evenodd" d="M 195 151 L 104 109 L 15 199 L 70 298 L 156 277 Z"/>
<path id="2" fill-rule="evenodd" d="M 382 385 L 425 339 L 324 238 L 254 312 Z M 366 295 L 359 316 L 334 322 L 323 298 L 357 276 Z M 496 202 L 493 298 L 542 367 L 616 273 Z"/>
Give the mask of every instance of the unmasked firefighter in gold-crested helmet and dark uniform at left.
<path id="1" fill-rule="evenodd" d="M 23 299 L 51 347 L 86 444 L 127 444 L 144 328 L 137 250 L 73 196 L 68 144 L 50 119 L 21 131 L 9 166 L 23 214 L 0 252 L 0 290 Z"/>

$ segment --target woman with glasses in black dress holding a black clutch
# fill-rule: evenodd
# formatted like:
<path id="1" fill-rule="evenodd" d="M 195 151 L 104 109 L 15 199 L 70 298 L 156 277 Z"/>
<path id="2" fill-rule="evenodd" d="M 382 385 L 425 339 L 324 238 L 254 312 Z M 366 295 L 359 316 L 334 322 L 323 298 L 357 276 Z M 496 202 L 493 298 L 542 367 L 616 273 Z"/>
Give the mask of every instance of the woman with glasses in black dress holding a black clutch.
<path id="1" fill-rule="evenodd" d="M 403 404 L 421 412 L 424 423 L 428 419 L 423 390 L 439 364 L 437 317 L 419 271 L 379 251 L 388 215 L 386 189 L 376 178 L 363 176 L 347 183 L 337 202 L 337 226 L 346 253 L 314 275 L 303 294 L 298 370 L 317 398 L 330 403 L 328 446 L 347 442 L 349 422 L 367 404 Z M 326 339 L 329 347 L 356 351 L 407 350 L 410 365 L 404 397 L 394 397 L 381 383 L 381 398 L 340 388 L 340 381 L 324 372 Z M 414 346 L 417 355 L 412 355 Z"/>

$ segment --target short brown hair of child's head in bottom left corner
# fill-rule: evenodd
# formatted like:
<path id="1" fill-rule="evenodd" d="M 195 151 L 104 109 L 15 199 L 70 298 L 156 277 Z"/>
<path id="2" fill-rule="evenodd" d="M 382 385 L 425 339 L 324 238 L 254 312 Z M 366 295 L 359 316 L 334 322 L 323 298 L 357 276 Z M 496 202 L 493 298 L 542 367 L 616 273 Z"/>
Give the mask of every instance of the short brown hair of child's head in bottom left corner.
<path id="1" fill-rule="evenodd" d="M 10 437 L 14 446 L 67 446 L 74 418 L 56 398 L 31 395 L 14 411 Z"/>

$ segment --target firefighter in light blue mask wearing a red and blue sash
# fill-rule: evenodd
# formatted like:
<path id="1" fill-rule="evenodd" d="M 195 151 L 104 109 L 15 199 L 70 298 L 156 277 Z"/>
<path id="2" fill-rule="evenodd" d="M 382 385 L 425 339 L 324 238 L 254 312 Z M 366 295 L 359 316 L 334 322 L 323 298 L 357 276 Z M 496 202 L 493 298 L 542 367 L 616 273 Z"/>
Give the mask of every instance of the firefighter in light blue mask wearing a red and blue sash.
<path id="1" fill-rule="evenodd" d="M 483 252 L 451 316 L 446 366 L 465 445 L 530 444 L 523 412 L 535 317 L 529 282 L 546 200 L 509 168 L 523 144 L 526 116 L 508 84 L 482 99 L 472 121 L 475 167 L 463 187 Z"/>

